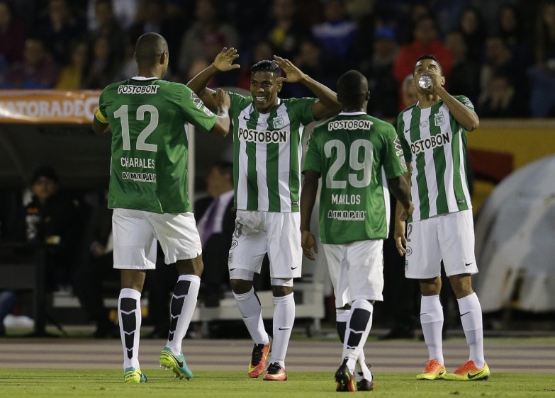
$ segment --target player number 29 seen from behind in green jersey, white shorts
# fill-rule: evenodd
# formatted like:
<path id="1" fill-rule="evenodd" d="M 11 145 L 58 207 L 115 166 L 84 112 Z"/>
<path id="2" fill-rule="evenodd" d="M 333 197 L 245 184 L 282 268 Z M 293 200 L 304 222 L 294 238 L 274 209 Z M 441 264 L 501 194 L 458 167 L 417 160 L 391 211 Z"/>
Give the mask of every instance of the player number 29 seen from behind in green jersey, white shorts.
<path id="1" fill-rule="evenodd" d="M 372 390 L 374 381 L 362 349 L 374 301 L 383 300 L 383 239 L 388 236 L 390 205 L 387 186 L 402 204 L 405 217 L 413 207 L 395 129 L 366 114 L 370 98 L 366 78 L 354 70 L 343 74 L 337 81 L 337 98 L 342 112 L 310 133 L 303 167 L 301 241 L 305 256 L 314 259 L 318 246 L 310 232 L 310 215 L 321 177 L 320 240 L 343 343 L 342 364 L 335 373 L 337 391 Z"/>

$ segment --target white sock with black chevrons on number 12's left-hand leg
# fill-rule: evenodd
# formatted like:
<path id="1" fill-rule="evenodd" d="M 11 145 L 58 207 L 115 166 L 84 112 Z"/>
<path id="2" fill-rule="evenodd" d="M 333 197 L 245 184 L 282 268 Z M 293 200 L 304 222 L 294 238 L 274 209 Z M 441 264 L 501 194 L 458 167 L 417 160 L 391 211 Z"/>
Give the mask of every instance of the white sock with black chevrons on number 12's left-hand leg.
<path id="1" fill-rule="evenodd" d="M 140 312 L 140 292 L 122 289 L 118 298 L 118 318 L 120 321 L 121 345 L 123 346 L 123 370 L 139 366 L 139 338 L 142 320 Z"/>

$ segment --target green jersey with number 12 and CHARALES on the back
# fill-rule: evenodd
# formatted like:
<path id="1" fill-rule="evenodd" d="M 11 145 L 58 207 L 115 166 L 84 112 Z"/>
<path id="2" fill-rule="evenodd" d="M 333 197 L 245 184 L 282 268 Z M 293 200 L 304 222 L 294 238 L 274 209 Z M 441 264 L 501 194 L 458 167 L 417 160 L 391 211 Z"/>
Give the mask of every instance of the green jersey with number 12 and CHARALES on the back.
<path id="1" fill-rule="evenodd" d="M 95 117 L 112 131 L 108 207 L 191 210 L 186 123 L 207 131 L 218 116 L 189 87 L 156 78 L 119 81 L 102 91 Z"/>

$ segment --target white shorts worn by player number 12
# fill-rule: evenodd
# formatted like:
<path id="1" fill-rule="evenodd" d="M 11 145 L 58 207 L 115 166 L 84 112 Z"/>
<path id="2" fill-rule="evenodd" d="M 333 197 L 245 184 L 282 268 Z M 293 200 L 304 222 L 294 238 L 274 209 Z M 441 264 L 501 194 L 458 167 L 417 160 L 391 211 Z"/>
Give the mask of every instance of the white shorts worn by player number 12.
<path id="1" fill-rule="evenodd" d="M 156 268 L 156 241 L 167 264 L 189 260 L 202 253 L 201 238 L 192 212 L 154 213 L 114 209 L 112 215 L 113 268 Z"/>

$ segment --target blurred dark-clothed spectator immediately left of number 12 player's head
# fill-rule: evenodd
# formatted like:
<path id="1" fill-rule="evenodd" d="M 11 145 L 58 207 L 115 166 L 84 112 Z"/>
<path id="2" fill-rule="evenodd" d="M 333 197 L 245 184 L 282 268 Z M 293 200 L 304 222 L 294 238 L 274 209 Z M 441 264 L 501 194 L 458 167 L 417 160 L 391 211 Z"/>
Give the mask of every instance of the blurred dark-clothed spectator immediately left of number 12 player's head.
<path id="1" fill-rule="evenodd" d="M 119 64 L 106 36 L 97 37 L 92 43 L 89 71 L 83 82 L 84 89 L 103 89 L 116 75 Z M 133 76 L 128 76 L 133 77 Z"/>

